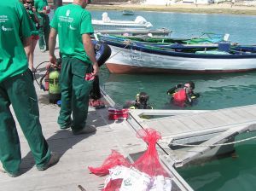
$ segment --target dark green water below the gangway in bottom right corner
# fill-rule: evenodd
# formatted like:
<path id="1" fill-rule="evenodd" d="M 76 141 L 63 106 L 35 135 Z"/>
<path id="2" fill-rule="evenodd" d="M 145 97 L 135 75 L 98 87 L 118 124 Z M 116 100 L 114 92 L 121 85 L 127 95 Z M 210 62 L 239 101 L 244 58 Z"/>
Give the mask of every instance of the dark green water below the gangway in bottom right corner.
<path id="1" fill-rule="evenodd" d="M 247 137 L 248 134 L 236 136 L 236 140 Z M 178 172 L 196 191 L 253 191 L 256 188 L 255 150 L 255 141 L 237 143 L 235 153 L 228 157 L 191 165 Z"/>

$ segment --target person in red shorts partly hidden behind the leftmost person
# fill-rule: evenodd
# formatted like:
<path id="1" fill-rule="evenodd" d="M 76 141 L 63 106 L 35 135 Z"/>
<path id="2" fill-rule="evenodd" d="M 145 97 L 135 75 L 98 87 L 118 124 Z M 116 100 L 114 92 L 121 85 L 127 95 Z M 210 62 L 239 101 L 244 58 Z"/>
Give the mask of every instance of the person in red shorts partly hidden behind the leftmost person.
<path id="1" fill-rule="evenodd" d="M 32 30 L 32 43 L 31 43 L 31 53 L 28 57 L 28 64 L 29 68 L 32 72 L 35 72 L 34 68 L 34 50 L 36 48 L 36 45 L 38 43 L 39 39 L 39 19 L 38 19 L 38 13 L 37 10 L 34 7 L 34 1 L 33 0 L 23 0 L 22 3 L 24 4 L 24 7 L 26 8 L 26 12 L 29 14 L 30 18 L 32 19 L 33 24 L 33 30 Z M 25 49 L 26 50 L 26 49 Z"/>

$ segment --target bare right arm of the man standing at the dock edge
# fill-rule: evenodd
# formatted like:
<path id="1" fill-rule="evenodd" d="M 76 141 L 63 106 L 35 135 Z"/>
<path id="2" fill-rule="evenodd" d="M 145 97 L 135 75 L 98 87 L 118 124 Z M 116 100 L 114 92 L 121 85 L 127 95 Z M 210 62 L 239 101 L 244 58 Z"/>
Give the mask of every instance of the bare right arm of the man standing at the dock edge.
<path id="1" fill-rule="evenodd" d="M 98 62 L 96 61 L 95 50 L 94 50 L 93 44 L 91 43 L 90 34 L 83 34 L 82 38 L 83 38 L 84 50 L 86 54 L 89 56 L 90 61 L 93 64 L 92 74 L 96 76 L 98 75 L 98 72 L 99 72 L 99 66 L 98 66 Z"/>

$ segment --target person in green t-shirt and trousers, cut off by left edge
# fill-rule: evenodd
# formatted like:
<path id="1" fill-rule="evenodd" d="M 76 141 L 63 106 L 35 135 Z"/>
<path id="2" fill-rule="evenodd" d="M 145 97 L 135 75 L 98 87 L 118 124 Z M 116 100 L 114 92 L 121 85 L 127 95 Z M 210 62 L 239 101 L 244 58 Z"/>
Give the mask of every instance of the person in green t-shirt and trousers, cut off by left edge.
<path id="1" fill-rule="evenodd" d="M 0 171 L 20 175 L 20 141 L 16 119 L 31 148 L 39 171 L 55 165 L 59 155 L 49 151 L 39 121 L 38 98 L 28 69 L 31 19 L 18 0 L 0 1 Z"/>

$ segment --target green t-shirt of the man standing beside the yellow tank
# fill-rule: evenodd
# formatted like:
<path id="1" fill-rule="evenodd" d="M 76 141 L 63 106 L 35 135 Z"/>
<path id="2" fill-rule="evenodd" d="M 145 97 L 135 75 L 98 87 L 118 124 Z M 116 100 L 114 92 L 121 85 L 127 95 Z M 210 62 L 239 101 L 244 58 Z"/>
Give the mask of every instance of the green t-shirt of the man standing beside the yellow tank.
<path id="1" fill-rule="evenodd" d="M 55 11 L 50 26 L 59 36 L 59 47 L 63 57 L 74 57 L 89 62 L 84 50 L 82 35 L 93 33 L 90 13 L 78 4 L 68 4 Z"/>

